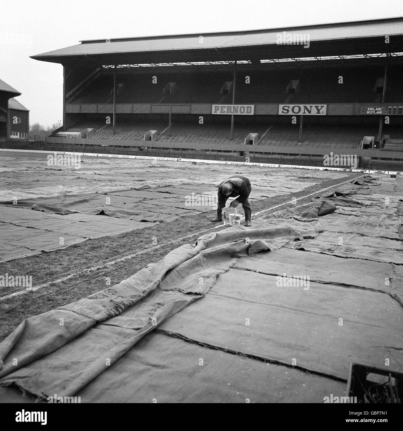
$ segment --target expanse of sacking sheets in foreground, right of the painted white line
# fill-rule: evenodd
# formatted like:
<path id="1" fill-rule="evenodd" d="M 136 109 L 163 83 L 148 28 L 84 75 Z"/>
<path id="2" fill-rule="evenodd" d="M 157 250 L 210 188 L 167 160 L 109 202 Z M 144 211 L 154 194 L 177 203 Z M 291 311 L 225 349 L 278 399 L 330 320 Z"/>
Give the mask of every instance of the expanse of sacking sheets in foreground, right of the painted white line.
<path id="1" fill-rule="evenodd" d="M 401 369 L 403 198 L 382 213 L 384 194 L 346 196 L 204 235 L 26 319 L 0 344 L 0 384 L 83 402 L 323 402 L 344 395 L 350 362 Z M 354 231 L 362 217 L 392 234 Z"/>

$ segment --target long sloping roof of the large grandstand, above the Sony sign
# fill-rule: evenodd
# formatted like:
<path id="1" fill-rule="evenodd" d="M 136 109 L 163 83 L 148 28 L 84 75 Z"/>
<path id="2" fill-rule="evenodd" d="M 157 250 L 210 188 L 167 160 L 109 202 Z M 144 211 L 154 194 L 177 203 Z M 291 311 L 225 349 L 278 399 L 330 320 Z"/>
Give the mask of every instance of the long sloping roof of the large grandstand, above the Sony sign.
<path id="1" fill-rule="evenodd" d="M 279 37 L 284 31 L 286 37 L 302 34 L 309 45 L 304 47 L 302 40 L 300 44 L 281 43 Z M 385 36 L 390 36 L 388 44 Z M 242 59 L 259 62 L 270 58 L 400 52 L 402 46 L 403 17 L 397 17 L 263 30 L 105 38 L 81 41 L 31 58 L 63 65 L 79 62 L 81 66 Z"/>

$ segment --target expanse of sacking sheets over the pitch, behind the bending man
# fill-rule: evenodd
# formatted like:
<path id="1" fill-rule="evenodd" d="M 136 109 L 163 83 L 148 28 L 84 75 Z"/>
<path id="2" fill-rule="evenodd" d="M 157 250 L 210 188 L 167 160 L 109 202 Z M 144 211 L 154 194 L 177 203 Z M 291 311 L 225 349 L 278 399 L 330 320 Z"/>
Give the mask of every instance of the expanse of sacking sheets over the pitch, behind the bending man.
<path id="1" fill-rule="evenodd" d="M 79 169 L 48 167 L 46 153 L 34 157 L 0 157 L 3 262 L 214 211 L 218 184 L 234 173 L 225 165 L 217 173 L 212 165 L 91 156 L 82 158 Z M 296 193 L 343 175 L 319 171 L 313 179 L 271 169 L 267 181 L 266 169 L 243 169 L 253 182 L 251 201 Z"/>

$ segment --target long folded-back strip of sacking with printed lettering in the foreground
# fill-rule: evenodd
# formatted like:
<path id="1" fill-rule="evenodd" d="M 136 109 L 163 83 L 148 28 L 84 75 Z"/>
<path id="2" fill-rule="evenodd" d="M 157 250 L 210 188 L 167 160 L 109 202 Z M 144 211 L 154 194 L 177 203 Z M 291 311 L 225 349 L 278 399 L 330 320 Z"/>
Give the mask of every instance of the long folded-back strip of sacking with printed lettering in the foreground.
<path id="1" fill-rule="evenodd" d="M 25 319 L 0 344 L 0 385 L 16 384 L 43 398 L 72 396 L 162 321 L 203 297 L 237 256 L 317 235 L 281 225 L 207 234 L 115 286 Z"/>

